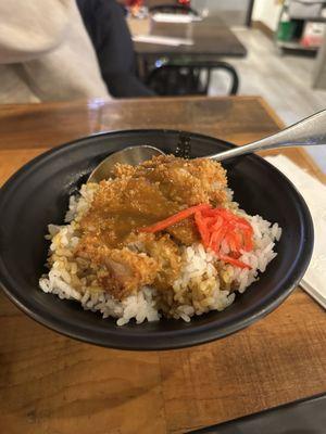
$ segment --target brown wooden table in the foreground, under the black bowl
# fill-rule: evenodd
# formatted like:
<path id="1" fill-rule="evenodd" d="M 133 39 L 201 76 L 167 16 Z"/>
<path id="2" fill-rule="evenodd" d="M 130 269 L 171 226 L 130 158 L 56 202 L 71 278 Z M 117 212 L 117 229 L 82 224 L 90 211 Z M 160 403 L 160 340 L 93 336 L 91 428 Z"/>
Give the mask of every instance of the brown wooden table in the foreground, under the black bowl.
<path id="1" fill-rule="evenodd" d="M 243 143 L 277 131 L 260 98 L 0 106 L 0 182 L 59 143 L 118 128 L 181 128 Z M 316 177 L 303 151 L 285 154 Z M 0 296 L 5 434 L 183 433 L 326 391 L 326 316 L 301 290 L 249 329 L 198 347 L 131 353 L 61 336 Z"/>

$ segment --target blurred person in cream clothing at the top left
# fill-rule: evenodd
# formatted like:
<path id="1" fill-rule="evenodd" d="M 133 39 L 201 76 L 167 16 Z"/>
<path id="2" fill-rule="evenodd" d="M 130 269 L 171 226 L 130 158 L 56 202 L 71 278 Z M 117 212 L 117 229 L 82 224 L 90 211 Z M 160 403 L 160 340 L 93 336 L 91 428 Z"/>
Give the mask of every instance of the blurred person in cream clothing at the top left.
<path id="1" fill-rule="evenodd" d="M 110 98 L 75 0 L 0 2 L 0 103 Z"/>

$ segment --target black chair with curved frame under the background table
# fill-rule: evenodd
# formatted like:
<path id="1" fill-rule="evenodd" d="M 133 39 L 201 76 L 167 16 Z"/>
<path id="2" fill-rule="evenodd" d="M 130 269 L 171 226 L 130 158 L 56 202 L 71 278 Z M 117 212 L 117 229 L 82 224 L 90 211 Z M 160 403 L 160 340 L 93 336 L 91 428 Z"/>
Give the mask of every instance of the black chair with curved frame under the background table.
<path id="1" fill-rule="evenodd" d="M 212 71 L 226 71 L 231 79 L 228 94 L 236 94 L 239 77 L 236 69 L 226 62 L 167 63 L 155 67 L 148 76 L 147 86 L 161 97 L 206 95 Z"/>

